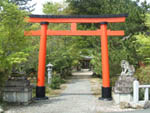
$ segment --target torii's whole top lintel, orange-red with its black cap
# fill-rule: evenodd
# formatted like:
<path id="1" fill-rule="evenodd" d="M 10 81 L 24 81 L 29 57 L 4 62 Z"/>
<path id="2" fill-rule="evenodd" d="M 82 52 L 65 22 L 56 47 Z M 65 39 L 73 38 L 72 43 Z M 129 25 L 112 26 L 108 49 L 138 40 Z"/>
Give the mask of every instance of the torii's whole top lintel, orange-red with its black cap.
<path id="1" fill-rule="evenodd" d="M 128 14 L 117 15 L 29 15 L 28 22 L 40 23 L 119 23 L 125 22 Z"/>

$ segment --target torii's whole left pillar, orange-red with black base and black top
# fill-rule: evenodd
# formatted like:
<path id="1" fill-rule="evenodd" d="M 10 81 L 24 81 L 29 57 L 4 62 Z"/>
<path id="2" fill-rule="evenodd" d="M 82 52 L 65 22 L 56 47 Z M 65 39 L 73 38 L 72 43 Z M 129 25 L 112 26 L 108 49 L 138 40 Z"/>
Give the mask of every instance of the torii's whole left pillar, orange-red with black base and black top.
<path id="1" fill-rule="evenodd" d="M 40 37 L 36 99 L 47 99 L 47 97 L 45 96 L 45 64 L 46 64 L 47 26 L 48 26 L 48 22 L 41 22 L 41 37 Z"/>

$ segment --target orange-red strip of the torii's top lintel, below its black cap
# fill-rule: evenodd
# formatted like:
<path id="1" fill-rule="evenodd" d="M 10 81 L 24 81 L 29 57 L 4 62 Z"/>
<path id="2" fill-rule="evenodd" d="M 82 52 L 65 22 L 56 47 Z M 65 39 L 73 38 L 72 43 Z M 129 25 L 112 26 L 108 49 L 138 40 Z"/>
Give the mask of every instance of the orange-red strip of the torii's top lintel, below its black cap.
<path id="1" fill-rule="evenodd" d="M 109 23 L 119 23 L 125 22 L 126 17 L 112 17 L 112 18 L 28 18 L 28 22 L 40 23 L 40 22 L 49 22 L 49 23 L 100 23 L 100 22 L 109 22 Z"/>

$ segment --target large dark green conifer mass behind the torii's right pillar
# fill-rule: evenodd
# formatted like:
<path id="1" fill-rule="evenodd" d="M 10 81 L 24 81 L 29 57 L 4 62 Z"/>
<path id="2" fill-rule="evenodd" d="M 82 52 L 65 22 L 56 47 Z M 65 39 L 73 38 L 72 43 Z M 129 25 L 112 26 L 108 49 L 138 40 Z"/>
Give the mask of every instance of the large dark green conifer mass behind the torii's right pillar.
<path id="1" fill-rule="evenodd" d="M 129 14 L 125 23 L 109 24 L 108 28 L 112 30 L 122 29 L 126 33 L 126 37 L 110 37 L 109 38 L 109 64 L 110 76 L 117 76 L 121 72 L 120 62 L 125 59 L 133 64 L 138 65 L 140 56 L 136 51 L 136 38 L 133 34 L 139 31 L 146 31 L 145 25 L 146 15 L 149 5 L 143 2 L 139 5 L 139 1 L 132 0 L 67 0 L 68 7 L 65 9 L 69 14 L 75 15 L 102 15 L 102 14 Z M 81 25 L 86 29 L 99 29 L 99 24 Z M 86 43 L 85 43 L 86 44 Z M 101 75 L 101 44 L 99 38 L 91 38 L 89 41 L 92 52 L 89 55 L 93 57 L 91 63 L 94 72 Z M 90 48 L 86 47 L 86 48 Z"/>

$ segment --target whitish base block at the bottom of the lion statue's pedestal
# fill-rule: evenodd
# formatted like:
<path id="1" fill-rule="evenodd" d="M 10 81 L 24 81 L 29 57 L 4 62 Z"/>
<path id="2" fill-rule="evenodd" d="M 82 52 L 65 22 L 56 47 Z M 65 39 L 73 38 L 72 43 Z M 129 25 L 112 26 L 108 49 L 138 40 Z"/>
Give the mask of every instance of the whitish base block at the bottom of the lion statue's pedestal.
<path id="1" fill-rule="evenodd" d="M 113 101 L 115 104 L 120 104 L 120 102 L 132 102 L 133 97 L 132 94 L 120 94 L 120 93 L 113 93 Z"/>

